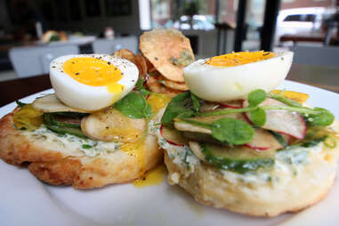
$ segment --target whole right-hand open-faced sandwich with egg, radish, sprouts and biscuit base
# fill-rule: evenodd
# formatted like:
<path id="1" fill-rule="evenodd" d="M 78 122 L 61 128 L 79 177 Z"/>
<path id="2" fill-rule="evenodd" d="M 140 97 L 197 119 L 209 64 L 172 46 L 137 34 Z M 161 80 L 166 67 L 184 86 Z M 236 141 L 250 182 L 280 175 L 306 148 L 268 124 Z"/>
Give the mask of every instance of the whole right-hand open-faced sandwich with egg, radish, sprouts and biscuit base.
<path id="1" fill-rule="evenodd" d="M 308 95 L 274 90 L 293 52 L 233 52 L 183 69 L 157 128 L 168 182 L 198 202 L 276 216 L 324 198 L 335 180 L 338 125 Z"/>

